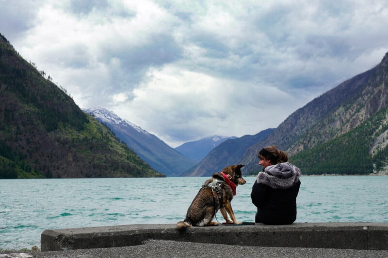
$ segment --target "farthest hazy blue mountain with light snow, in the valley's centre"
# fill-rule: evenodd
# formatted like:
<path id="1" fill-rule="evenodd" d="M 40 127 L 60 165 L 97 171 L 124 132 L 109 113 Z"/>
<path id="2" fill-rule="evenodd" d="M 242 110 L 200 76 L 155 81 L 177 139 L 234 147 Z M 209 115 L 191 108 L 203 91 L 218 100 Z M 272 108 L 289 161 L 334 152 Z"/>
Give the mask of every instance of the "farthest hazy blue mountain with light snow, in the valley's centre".
<path id="1" fill-rule="evenodd" d="M 227 139 L 235 139 L 237 137 L 225 137 L 225 136 L 209 136 L 197 141 L 186 142 L 177 148 L 178 152 L 182 153 L 186 157 L 199 162 L 201 161 L 214 147 L 217 147 Z"/>

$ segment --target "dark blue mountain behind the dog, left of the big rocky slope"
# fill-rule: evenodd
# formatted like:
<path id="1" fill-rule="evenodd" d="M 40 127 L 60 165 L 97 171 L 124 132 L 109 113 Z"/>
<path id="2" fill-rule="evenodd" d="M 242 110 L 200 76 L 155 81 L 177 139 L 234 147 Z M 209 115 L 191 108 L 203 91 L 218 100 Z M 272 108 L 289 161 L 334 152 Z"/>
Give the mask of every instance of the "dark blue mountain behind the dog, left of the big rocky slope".
<path id="1" fill-rule="evenodd" d="M 240 164 L 239 159 L 245 150 L 254 143 L 271 135 L 275 129 L 270 128 L 256 135 L 230 138 L 212 149 L 209 154 L 195 167 L 186 171 L 186 176 L 210 176 L 212 173 L 221 171 L 224 167 Z"/>

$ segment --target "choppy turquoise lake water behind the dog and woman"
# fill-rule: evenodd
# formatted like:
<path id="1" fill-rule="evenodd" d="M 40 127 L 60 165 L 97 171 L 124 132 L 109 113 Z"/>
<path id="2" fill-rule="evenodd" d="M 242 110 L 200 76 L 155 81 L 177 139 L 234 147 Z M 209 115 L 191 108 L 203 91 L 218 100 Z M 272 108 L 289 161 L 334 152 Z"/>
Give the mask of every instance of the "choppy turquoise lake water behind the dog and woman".
<path id="1" fill-rule="evenodd" d="M 0 180 L 0 248 L 40 246 L 49 228 L 170 224 L 183 220 L 208 178 Z M 254 221 L 255 177 L 237 187 L 239 221 Z M 296 222 L 388 223 L 388 176 L 302 177 Z M 217 218 L 222 222 L 218 212 Z"/>

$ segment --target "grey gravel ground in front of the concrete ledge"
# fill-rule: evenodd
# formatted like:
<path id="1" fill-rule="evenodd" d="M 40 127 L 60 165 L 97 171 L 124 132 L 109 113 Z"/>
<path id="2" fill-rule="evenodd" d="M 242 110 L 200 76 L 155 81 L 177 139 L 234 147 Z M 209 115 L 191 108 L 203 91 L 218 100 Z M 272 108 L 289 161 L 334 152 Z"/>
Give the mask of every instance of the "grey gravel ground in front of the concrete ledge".
<path id="1" fill-rule="evenodd" d="M 148 240 L 142 245 L 50 252 L 0 252 L 0 258 L 194 258 L 194 257 L 330 257 L 388 258 L 388 250 L 286 248 Z"/>

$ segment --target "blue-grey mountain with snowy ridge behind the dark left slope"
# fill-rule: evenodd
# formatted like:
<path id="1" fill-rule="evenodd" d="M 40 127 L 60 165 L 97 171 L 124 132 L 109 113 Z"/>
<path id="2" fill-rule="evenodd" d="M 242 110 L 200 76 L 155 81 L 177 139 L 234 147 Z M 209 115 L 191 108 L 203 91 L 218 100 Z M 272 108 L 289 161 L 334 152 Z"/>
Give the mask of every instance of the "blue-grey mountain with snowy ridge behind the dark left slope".
<path id="1" fill-rule="evenodd" d="M 113 111 L 104 108 L 90 108 L 84 111 L 107 125 L 118 138 L 124 141 L 146 163 L 166 176 L 178 176 L 196 164 L 193 160 L 165 144 L 158 137 L 129 121 L 121 119 Z"/>

